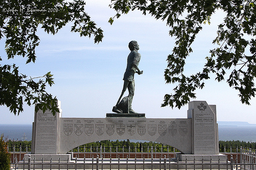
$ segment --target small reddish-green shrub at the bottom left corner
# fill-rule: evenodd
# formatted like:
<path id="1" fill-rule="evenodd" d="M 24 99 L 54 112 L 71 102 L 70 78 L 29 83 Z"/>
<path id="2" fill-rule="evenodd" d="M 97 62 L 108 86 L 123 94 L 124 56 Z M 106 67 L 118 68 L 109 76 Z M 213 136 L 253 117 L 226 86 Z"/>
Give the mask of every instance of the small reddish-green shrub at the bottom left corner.
<path id="1" fill-rule="evenodd" d="M 8 153 L 7 139 L 4 139 L 4 134 L 0 138 L 0 169 L 9 170 L 11 166 L 10 155 Z"/>

